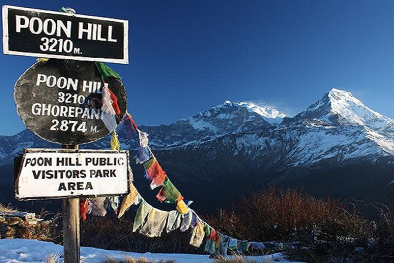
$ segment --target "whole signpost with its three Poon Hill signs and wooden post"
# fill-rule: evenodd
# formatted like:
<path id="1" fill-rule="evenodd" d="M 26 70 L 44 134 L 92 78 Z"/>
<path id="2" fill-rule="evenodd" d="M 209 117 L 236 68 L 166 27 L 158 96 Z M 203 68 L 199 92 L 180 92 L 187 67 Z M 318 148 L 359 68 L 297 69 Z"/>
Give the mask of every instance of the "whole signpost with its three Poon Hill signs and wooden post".
<path id="1" fill-rule="evenodd" d="M 14 6 L 3 6 L 2 14 L 3 53 L 50 59 L 32 65 L 16 82 L 19 117 L 31 132 L 73 151 L 53 150 L 48 156 L 25 149 L 15 197 L 65 198 L 64 262 L 80 262 L 79 197 L 128 193 L 128 153 L 78 150 L 79 144 L 113 132 L 125 115 L 122 81 L 103 78 L 96 62 L 128 64 L 128 21 Z M 116 114 L 102 109 L 104 88 L 116 98 Z M 93 165 L 92 158 L 100 164 Z"/>

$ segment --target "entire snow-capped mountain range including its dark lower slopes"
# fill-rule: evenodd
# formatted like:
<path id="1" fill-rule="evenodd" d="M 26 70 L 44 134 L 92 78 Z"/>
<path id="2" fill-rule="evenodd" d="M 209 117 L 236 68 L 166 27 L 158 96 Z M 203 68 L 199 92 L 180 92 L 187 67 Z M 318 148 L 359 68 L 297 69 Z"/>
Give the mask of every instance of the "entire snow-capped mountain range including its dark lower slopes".
<path id="1" fill-rule="evenodd" d="M 231 196 L 229 187 L 237 192 L 271 183 L 310 185 L 312 192 L 326 191 L 322 194 L 364 194 L 371 186 L 384 192 L 394 179 L 393 120 L 339 89 L 294 117 L 253 103 L 226 101 L 170 125 L 140 129 L 149 134 L 149 144 L 171 180 L 195 200 L 206 198 L 203 192 L 220 191 L 220 203 Z M 137 147 L 124 126 L 118 134 L 123 149 Z M 109 140 L 83 147 L 108 148 Z M 0 164 L 10 164 L 25 147 L 53 144 L 27 130 L 0 137 Z"/>

